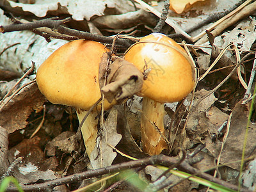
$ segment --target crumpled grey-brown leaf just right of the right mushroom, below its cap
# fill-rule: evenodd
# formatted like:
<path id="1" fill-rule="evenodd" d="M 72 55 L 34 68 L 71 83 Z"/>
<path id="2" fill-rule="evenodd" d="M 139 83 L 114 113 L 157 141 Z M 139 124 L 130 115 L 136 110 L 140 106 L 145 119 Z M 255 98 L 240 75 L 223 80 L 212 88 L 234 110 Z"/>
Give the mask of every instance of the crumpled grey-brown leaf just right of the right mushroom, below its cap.
<path id="1" fill-rule="evenodd" d="M 195 93 L 195 104 L 198 103 L 202 97 L 208 95 L 209 91 L 200 90 Z M 214 95 L 209 95 L 196 106 L 192 108 L 193 113 L 188 116 L 188 124 L 186 131 L 194 143 L 204 143 L 205 148 L 209 150 L 213 157 L 218 156 L 218 150 L 221 146 L 219 140 L 212 141 L 211 134 L 217 133 L 220 126 L 228 119 L 228 115 L 220 111 L 220 109 L 213 106 L 216 101 Z"/>

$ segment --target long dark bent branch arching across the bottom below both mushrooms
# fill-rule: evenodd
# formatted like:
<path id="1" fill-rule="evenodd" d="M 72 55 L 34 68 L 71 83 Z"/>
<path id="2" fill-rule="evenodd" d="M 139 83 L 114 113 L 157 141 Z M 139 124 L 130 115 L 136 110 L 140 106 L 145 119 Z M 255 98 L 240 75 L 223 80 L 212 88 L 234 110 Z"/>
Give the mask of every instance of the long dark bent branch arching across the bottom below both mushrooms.
<path id="1" fill-rule="evenodd" d="M 147 157 L 145 159 L 139 159 L 136 161 L 129 161 L 125 163 L 119 163 L 119 164 L 114 164 L 112 166 L 107 166 L 105 168 L 99 168 L 97 170 L 89 170 L 86 172 L 82 173 L 76 173 L 74 175 L 69 175 L 67 177 L 63 177 L 60 179 L 55 179 L 51 180 L 48 182 L 44 182 L 41 184 L 31 184 L 27 186 L 22 186 L 22 189 L 24 191 L 45 191 L 47 189 L 52 189 L 56 186 L 60 186 L 62 184 L 67 184 L 67 183 L 72 183 L 72 182 L 77 182 L 81 181 L 83 179 L 89 179 L 92 177 L 97 177 L 100 175 L 104 175 L 107 173 L 115 173 L 115 172 L 120 172 L 121 170 L 127 170 L 131 168 L 138 168 L 138 167 L 143 167 L 147 165 L 152 165 L 152 164 L 159 164 L 163 166 L 173 166 L 173 164 L 177 164 L 179 162 L 179 159 L 175 157 L 168 157 L 164 155 L 159 155 L 159 156 L 152 156 L 152 157 Z M 193 168 L 189 163 L 186 161 L 183 161 L 180 163 L 177 168 L 183 172 L 189 173 L 189 174 L 196 174 L 198 177 L 202 177 L 204 179 L 210 180 L 211 182 L 215 182 L 216 184 L 221 184 L 221 186 L 225 186 L 227 188 L 237 190 L 237 186 L 230 184 L 228 182 L 225 182 L 224 180 L 220 180 L 218 178 L 212 177 L 211 175 L 207 173 L 201 173 L 199 172 L 196 168 Z M 17 188 L 8 188 L 6 189 L 7 191 L 17 191 Z M 249 191 L 247 189 L 241 189 L 241 191 Z"/>

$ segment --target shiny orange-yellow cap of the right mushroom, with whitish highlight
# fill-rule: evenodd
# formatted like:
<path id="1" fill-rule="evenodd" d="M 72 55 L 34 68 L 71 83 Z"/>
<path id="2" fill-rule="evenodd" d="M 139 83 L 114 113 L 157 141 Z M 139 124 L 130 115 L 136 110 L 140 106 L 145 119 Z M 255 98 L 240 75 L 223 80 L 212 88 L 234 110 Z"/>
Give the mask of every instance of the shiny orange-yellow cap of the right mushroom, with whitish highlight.
<path id="1" fill-rule="evenodd" d="M 174 40 L 160 33 L 141 38 L 125 53 L 125 60 L 148 72 L 140 96 L 157 102 L 177 102 L 195 86 L 194 67 Z"/>

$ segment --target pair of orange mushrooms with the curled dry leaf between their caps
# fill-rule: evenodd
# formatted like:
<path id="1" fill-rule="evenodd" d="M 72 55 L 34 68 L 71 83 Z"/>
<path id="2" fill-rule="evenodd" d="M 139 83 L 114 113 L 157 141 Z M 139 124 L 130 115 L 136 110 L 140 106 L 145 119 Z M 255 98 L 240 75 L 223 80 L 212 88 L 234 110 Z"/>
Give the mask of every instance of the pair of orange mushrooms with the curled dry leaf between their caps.
<path id="1" fill-rule="evenodd" d="M 38 68 L 36 83 L 40 92 L 53 104 L 76 108 L 79 122 L 102 93 L 107 98 L 104 109 L 137 93 L 143 97 L 143 150 L 150 155 L 160 154 L 168 148 L 163 125 L 164 103 L 182 100 L 195 86 L 195 71 L 188 55 L 171 38 L 152 33 L 129 47 L 125 60 L 112 56 L 108 84 L 102 87 L 99 76 L 108 65 L 108 51 L 104 45 L 90 40 L 74 40 L 61 46 Z M 97 109 L 81 127 L 89 157 L 97 138 Z"/>

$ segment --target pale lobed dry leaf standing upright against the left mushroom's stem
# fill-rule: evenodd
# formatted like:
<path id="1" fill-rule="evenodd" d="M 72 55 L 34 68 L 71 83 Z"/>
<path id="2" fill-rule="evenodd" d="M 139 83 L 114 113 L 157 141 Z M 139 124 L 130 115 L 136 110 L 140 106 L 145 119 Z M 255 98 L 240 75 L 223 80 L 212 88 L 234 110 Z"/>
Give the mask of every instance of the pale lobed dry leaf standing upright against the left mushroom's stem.
<path id="1" fill-rule="evenodd" d="M 104 124 L 104 128 L 100 132 L 100 136 L 96 140 L 95 148 L 90 156 L 93 169 L 110 166 L 116 157 L 116 152 L 113 152 L 113 148 L 109 145 L 115 147 L 122 138 L 116 132 L 117 114 L 118 111 L 112 108 Z"/>

